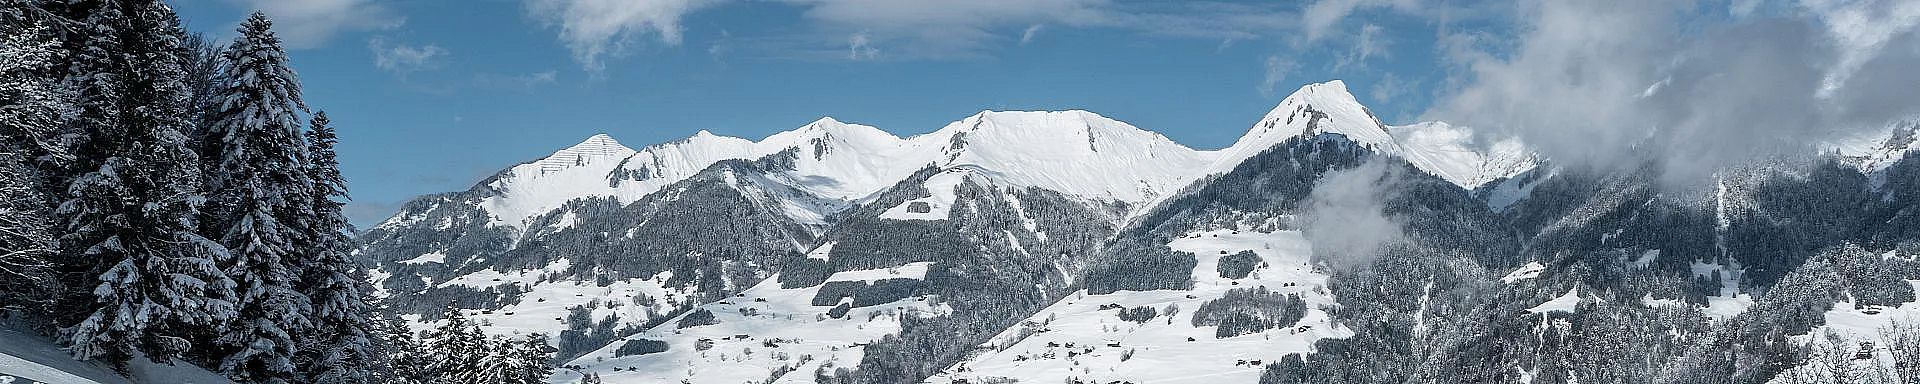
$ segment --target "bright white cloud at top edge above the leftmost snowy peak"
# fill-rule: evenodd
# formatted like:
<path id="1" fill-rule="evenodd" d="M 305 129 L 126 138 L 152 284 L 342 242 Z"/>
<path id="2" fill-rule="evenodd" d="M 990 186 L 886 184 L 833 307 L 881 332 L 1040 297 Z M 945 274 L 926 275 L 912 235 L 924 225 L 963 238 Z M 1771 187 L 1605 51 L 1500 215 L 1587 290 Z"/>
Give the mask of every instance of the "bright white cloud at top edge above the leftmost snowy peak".
<path id="1" fill-rule="evenodd" d="M 634 40 L 655 36 L 678 46 L 680 17 L 718 4 L 718 0 L 526 0 L 530 15 L 559 29 L 588 71 L 601 71 L 609 58 L 626 56 Z"/>

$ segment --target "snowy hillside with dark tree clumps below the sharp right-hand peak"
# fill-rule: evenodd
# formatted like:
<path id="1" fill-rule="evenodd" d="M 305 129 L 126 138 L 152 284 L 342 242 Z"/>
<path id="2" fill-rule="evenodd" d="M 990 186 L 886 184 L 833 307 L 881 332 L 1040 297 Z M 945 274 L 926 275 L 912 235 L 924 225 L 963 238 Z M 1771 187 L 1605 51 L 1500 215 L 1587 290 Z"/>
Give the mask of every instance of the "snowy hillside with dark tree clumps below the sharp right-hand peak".
<path id="1" fill-rule="evenodd" d="M 1311 248 L 1300 232 L 1208 230 L 1175 238 L 1169 246 L 1198 257 L 1192 290 L 1075 294 L 995 336 L 973 357 L 927 382 L 1062 382 L 1068 376 L 1092 382 L 1256 382 L 1265 363 L 1311 351 L 1321 338 L 1352 336 L 1319 309 L 1334 300 L 1325 294 L 1327 275 L 1308 265 Z M 1246 278 L 1221 278 L 1215 271 L 1221 252 L 1242 250 L 1252 250 L 1267 265 Z M 1258 286 L 1300 294 L 1311 309 L 1294 326 L 1260 334 L 1213 338 L 1215 326 L 1192 326 L 1192 311 L 1200 303 L 1233 288 Z M 1162 315 L 1144 324 L 1129 323 L 1102 305 L 1150 305 Z M 1169 305 L 1177 305 L 1179 313 L 1167 317 L 1164 309 Z"/>

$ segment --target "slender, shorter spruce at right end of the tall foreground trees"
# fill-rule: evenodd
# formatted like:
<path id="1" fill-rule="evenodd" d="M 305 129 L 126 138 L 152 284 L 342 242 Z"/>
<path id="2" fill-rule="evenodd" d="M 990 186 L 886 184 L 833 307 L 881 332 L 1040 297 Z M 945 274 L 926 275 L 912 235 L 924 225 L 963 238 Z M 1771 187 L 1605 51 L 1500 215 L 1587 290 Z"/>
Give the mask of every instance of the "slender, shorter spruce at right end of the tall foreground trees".
<path id="1" fill-rule="evenodd" d="M 303 221 L 301 250 L 311 257 L 301 273 L 301 294 L 313 303 L 313 330 L 301 334 L 300 372 L 317 384 L 372 382 L 371 323 L 372 307 L 367 305 L 367 273 L 353 259 L 353 240 L 348 238 L 351 225 L 340 213 L 346 198 L 346 179 L 340 177 L 340 161 L 334 154 L 334 129 L 326 111 L 313 113 L 313 129 L 307 131 L 307 171 L 305 182 L 309 211 Z"/>

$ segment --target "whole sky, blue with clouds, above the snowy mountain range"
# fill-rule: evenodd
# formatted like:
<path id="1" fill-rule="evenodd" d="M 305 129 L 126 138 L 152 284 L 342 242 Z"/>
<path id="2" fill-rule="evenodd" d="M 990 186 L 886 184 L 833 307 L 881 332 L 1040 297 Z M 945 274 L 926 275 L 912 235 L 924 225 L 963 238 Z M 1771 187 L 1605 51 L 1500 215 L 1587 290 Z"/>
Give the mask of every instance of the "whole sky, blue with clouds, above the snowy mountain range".
<path id="1" fill-rule="evenodd" d="M 904 136 L 981 109 L 1089 109 L 1194 148 L 1221 148 L 1290 90 L 1329 79 L 1346 81 L 1388 123 L 1473 123 L 1567 159 L 1645 136 L 1619 127 L 1697 129 L 1676 136 L 1741 152 L 1753 142 L 1716 138 L 1757 134 L 1690 127 L 1692 117 L 1772 102 L 1740 96 L 1766 94 L 1751 84 L 1782 75 L 1715 77 L 1686 67 L 1709 61 L 1697 58 L 1741 58 L 1755 46 L 1741 36 L 1782 40 L 1740 31 L 1809 36 L 1807 46 L 1780 50 L 1816 58 L 1814 81 L 1853 77 L 1839 90 L 1878 83 L 1893 88 L 1880 92 L 1899 94 L 1912 77 L 1870 69 L 1907 63 L 1876 63 L 1887 61 L 1880 60 L 1885 46 L 1920 46 L 1912 42 L 1920 40 L 1912 38 L 1920 6 L 1901 0 L 173 4 L 190 31 L 221 38 L 250 10 L 275 17 L 307 104 L 340 129 L 355 198 L 349 215 L 359 225 L 413 196 L 463 190 L 593 132 L 628 146 L 701 129 L 760 138 L 831 115 Z M 1674 121 L 1613 119 L 1647 108 L 1649 84 L 1667 83 L 1692 92 L 1655 106 L 1667 109 L 1657 117 Z M 1822 94 L 1830 100 L 1812 102 L 1845 104 Z M 1690 96 L 1732 102 L 1672 102 Z M 1574 125 L 1561 129 L 1567 117 Z"/>

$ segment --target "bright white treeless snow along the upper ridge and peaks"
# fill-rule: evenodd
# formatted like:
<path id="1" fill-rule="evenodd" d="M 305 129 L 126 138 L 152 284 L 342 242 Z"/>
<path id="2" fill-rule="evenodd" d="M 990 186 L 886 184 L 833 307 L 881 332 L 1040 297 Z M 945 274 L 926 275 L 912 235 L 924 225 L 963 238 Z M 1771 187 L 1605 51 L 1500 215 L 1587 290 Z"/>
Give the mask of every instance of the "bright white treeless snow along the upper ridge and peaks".
<path id="1" fill-rule="evenodd" d="M 996 184 L 1148 204 L 1286 138 L 1321 132 L 1405 157 L 1463 188 L 1534 167 L 1534 156 L 1513 140 L 1480 146 L 1469 129 L 1446 123 L 1382 125 L 1344 83 L 1329 81 L 1302 86 L 1221 150 L 1192 150 L 1091 111 L 979 111 L 910 138 L 831 117 L 762 140 L 701 131 L 639 150 L 595 134 L 486 180 L 480 207 L 490 227 L 520 230 L 532 217 L 570 200 L 636 202 L 716 161 L 770 156 L 791 156 L 791 169 L 770 173 L 770 179 L 843 202 L 868 198 L 922 167 L 964 167 Z M 413 223 L 396 215 L 380 227 L 397 225 Z"/>

